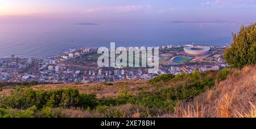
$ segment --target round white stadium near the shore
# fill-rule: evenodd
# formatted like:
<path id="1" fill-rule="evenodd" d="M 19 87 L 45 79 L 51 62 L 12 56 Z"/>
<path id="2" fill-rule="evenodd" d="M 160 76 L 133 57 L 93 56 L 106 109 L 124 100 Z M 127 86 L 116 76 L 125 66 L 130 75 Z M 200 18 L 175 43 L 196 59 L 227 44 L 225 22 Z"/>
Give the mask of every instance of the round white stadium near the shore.
<path id="1" fill-rule="evenodd" d="M 208 54 L 210 48 L 208 46 L 193 46 L 184 48 L 185 53 L 190 55 L 204 55 Z"/>

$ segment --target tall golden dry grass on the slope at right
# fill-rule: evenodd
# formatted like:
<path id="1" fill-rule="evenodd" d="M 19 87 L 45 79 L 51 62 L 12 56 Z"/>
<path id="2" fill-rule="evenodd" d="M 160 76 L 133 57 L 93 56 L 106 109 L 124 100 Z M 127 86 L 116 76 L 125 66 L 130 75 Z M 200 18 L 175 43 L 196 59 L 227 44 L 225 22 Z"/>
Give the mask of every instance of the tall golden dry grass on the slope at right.
<path id="1" fill-rule="evenodd" d="M 174 117 L 251 118 L 256 117 L 256 65 L 234 70 L 228 79 L 176 106 Z"/>

